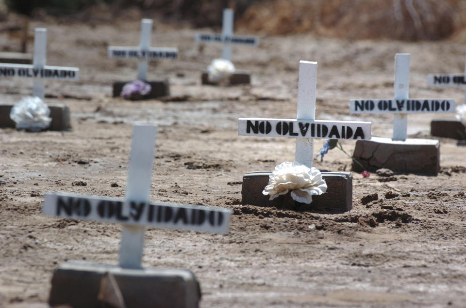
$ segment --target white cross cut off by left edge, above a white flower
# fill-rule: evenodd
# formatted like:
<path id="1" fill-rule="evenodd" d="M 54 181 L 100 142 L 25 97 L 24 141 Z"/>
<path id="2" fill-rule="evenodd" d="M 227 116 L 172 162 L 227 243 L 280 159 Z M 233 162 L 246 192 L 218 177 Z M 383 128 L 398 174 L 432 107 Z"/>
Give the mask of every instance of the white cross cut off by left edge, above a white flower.
<path id="1" fill-rule="evenodd" d="M 0 77 L 34 78 L 33 96 L 44 99 L 44 81 L 46 79 L 78 79 L 79 68 L 45 65 L 47 59 L 47 29 L 35 28 L 34 56 L 31 64 L 0 63 Z"/>

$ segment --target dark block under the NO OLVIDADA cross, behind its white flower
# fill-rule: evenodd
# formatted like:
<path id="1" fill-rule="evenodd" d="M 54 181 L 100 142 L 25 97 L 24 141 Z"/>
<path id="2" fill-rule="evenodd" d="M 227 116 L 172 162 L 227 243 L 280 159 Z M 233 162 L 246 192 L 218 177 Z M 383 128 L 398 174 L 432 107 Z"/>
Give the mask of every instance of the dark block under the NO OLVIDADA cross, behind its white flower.
<path id="1" fill-rule="evenodd" d="M 297 202 L 289 194 L 270 201 L 269 196 L 262 194 L 270 173 L 272 172 L 249 172 L 243 176 L 242 204 L 329 214 L 348 212 L 352 208 L 353 176 L 351 172 L 322 172 L 322 177 L 327 182 L 327 192 L 320 196 L 312 196 L 311 204 Z"/>

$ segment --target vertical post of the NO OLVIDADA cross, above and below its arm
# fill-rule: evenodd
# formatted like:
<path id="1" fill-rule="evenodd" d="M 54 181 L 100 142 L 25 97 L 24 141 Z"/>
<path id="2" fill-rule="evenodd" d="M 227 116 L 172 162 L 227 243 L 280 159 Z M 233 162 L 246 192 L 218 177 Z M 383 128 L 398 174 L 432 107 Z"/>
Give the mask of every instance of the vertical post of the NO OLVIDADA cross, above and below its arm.
<path id="1" fill-rule="evenodd" d="M 297 120 L 314 121 L 316 118 L 317 62 L 300 61 L 298 79 Z M 295 160 L 312 167 L 314 141 L 310 138 L 296 139 Z"/>

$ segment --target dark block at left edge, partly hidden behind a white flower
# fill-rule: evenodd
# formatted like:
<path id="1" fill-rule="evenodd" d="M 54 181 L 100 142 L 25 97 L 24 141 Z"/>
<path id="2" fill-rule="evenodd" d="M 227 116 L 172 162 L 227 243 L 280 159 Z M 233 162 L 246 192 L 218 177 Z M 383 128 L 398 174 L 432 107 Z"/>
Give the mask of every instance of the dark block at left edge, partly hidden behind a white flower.
<path id="1" fill-rule="evenodd" d="M 50 127 L 48 130 L 69 130 L 69 108 L 66 105 L 48 105 L 50 108 Z M 16 127 L 15 121 L 10 119 L 10 111 L 13 105 L 0 105 L 0 127 Z"/>

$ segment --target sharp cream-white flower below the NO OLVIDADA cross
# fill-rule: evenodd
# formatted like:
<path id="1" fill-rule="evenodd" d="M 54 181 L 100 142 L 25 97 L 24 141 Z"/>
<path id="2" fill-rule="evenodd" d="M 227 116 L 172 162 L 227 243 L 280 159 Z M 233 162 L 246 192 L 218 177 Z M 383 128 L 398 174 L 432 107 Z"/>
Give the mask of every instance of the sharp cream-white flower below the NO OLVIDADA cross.
<path id="1" fill-rule="evenodd" d="M 308 168 L 296 161 L 285 161 L 275 167 L 262 193 L 273 200 L 290 190 L 293 200 L 309 204 L 313 195 L 321 195 L 327 191 L 327 183 L 322 179 L 319 169 Z"/>

